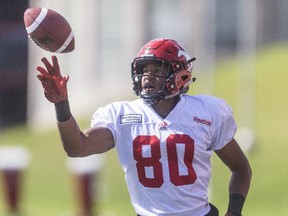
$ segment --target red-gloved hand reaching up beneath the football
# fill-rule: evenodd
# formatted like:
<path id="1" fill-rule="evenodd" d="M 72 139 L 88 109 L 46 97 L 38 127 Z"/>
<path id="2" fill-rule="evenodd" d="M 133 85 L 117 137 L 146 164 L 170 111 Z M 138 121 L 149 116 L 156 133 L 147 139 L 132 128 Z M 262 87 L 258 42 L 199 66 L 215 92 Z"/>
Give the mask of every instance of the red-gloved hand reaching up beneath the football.
<path id="1" fill-rule="evenodd" d="M 41 61 L 46 69 L 40 66 L 37 67 L 40 72 L 37 77 L 44 88 L 45 97 L 52 103 L 60 103 L 66 100 L 69 76 L 63 77 L 61 75 L 57 57 L 52 56 L 52 64 L 45 57 Z"/>

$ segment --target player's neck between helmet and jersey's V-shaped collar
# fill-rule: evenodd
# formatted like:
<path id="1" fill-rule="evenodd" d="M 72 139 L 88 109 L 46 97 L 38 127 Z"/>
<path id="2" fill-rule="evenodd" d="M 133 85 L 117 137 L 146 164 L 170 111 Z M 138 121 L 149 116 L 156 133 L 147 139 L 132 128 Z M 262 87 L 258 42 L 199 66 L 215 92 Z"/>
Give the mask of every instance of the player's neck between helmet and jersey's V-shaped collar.
<path id="1" fill-rule="evenodd" d="M 169 115 L 179 101 L 180 96 L 177 95 L 175 97 L 163 100 L 160 103 L 153 104 L 152 107 L 155 112 L 164 119 Z"/>

